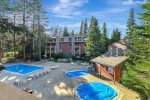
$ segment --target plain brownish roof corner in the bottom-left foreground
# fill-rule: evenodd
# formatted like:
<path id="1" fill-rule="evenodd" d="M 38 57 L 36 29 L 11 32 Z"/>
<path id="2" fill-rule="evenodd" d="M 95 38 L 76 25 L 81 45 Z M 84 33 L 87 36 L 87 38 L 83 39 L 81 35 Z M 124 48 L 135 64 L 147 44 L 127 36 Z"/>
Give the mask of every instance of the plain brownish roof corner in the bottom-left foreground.
<path id="1" fill-rule="evenodd" d="M 27 92 L 0 82 L 0 100 L 41 100 Z"/>

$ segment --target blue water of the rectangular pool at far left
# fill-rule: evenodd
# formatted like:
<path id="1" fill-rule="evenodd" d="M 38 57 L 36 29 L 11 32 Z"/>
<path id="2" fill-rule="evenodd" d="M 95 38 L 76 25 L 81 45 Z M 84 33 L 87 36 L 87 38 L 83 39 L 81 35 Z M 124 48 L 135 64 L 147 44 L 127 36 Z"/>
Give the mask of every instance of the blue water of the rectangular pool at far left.
<path id="1" fill-rule="evenodd" d="M 9 65 L 5 67 L 6 71 L 13 72 L 16 74 L 28 74 L 33 71 L 37 70 L 42 70 L 44 69 L 43 67 L 38 67 L 38 66 L 32 66 L 32 65 L 25 65 L 25 64 L 15 64 L 15 65 Z"/>

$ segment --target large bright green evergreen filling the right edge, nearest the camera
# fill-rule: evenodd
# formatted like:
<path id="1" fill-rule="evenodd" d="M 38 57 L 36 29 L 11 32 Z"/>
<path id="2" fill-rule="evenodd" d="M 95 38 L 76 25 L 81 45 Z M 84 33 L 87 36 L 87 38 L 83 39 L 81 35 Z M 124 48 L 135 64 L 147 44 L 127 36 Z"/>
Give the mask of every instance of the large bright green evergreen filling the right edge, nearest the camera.
<path id="1" fill-rule="evenodd" d="M 122 77 L 125 86 L 141 94 L 142 100 L 150 99 L 150 0 L 142 5 L 143 24 L 132 32 L 131 50 L 127 52 L 130 62 Z"/>

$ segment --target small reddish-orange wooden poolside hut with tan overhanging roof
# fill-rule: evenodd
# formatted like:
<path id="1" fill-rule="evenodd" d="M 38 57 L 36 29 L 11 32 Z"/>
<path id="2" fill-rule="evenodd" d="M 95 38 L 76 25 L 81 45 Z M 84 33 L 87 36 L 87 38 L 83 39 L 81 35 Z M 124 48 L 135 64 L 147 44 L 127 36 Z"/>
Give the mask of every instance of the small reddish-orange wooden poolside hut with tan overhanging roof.
<path id="1" fill-rule="evenodd" d="M 120 81 L 121 68 L 120 64 L 128 59 L 126 56 L 99 56 L 91 60 L 93 66 L 97 69 L 99 74 L 105 72 L 112 76 L 114 83 Z"/>

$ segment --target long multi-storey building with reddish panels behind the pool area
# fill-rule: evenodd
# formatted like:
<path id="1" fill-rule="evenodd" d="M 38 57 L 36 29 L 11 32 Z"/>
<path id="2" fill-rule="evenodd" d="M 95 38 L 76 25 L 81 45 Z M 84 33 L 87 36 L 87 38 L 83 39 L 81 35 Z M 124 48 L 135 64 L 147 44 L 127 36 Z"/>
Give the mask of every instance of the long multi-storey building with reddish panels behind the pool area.
<path id="1" fill-rule="evenodd" d="M 52 37 L 47 42 L 46 55 L 52 57 L 52 54 L 62 53 L 67 57 L 85 54 L 86 37 L 69 36 L 69 37 Z"/>

